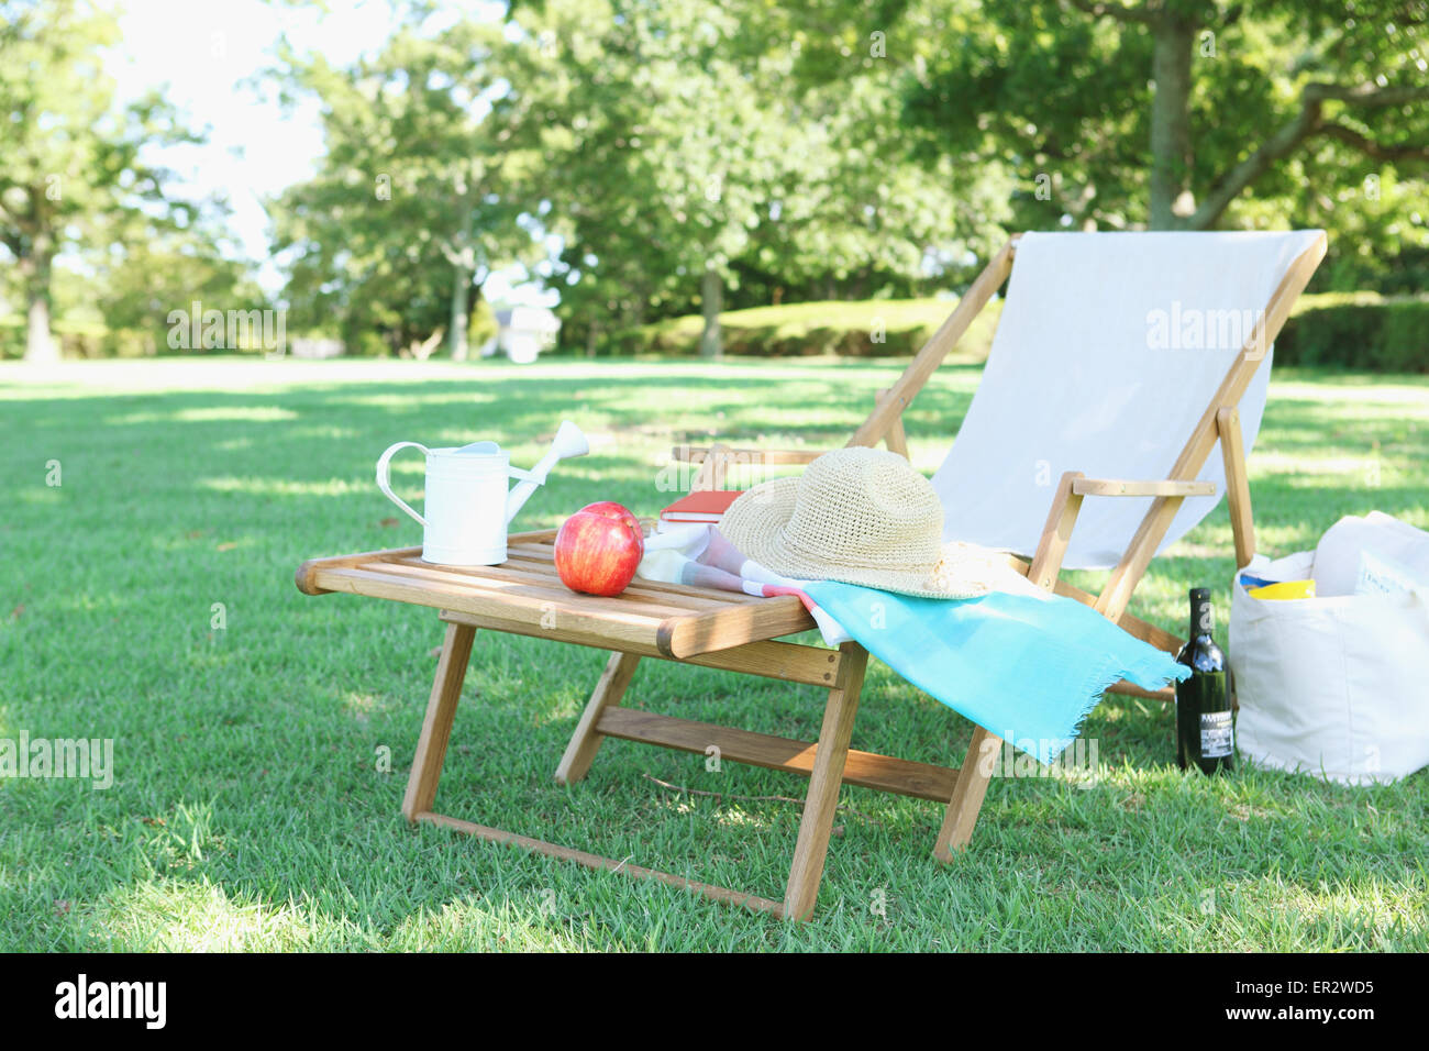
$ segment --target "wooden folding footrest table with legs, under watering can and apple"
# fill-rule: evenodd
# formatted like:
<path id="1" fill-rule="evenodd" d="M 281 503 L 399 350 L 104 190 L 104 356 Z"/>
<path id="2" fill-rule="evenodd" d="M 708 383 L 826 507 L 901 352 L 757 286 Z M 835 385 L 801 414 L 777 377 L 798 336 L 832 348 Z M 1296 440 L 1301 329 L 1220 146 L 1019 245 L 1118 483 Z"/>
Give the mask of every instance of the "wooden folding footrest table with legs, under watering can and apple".
<path id="1" fill-rule="evenodd" d="M 849 749 L 867 652 L 857 643 L 827 649 L 776 642 L 779 636 L 816 626 L 797 598 L 755 598 L 639 579 L 616 598 L 576 595 L 556 575 L 553 541 L 554 531 L 514 535 L 509 559 L 486 568 L 429 565 L 422 561 L 420 548 L 313 559 L 299 568 L 297 586 L 307 595 L 347 592 L 412 602 L 439 609 L 447 625 L 402 805 L 409 821 L 442 825 L 590 868 L 659 879 L 780 917 L 807 918 L 823 875 L 840 784 L 943 804 L 953 799 L 956 769 Z M 775 901 L 702 884 L 433 811 L 477 628 L 613 651 L 556 768 L 560 784 L 584 778 L 607 736 L 702 754 L 716 746 L 722 759 L 807 776 L 809 792 L 785 898 Z M 622 708 L 622 695 L 642 658 L 823 686 L 829 699 L 819 742 Z M 980 792 L 977 795 L 980 802 Z M 972 814 L 976 816 L 976 806 Z M 966 832 L 970 832 L 970 822 Z M 957 845 L 955 834 L 956 829 L 949 829 L 939 838 L 945 855 L 950 845 Z"/>

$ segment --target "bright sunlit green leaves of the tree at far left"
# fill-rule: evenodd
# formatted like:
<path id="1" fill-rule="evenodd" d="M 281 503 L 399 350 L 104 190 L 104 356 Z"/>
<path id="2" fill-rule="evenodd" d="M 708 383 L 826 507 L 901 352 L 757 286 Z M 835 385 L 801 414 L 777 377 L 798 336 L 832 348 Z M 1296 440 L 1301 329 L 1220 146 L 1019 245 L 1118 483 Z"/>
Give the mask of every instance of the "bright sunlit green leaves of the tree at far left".
<path id="1" fill-rule="evenodd" d="M 167 257 L 179 245 L 187 259 L 177 267 L 170 259 L 167 269 L 226 269 L 220 295 L 231 299 L 242 267 L 221 262 L 217 235 L 201 223 L 211 203 L 170 199 L 170 173 L 141 156 L 144 147 L 196 136 L 157 96 L 127 107 L 114 102 L 104 56 L 119 29 L 109 9 L 51 0 L 6 1 L 0 11 L 0 245 L 16 263 L 6 290 L 11 306 L 30 312 L 33 353 L 43 357 L 53 345 L 53 285 L 61 259 L 87 280 L 83 313 L 99 307 L 116 333 L 154 326 L 151 317 L 136 322 L 134 309 L 139 300 L 151 302 L 164 282 L 141 263 Z M 186 297 L 183 290 L 159 307 L 166 312 Z M 93 336 L 73 327 L 59 335 L 70 352 L 96 349 Z M 100 352 L 133 342 L 116 336 Z"/>

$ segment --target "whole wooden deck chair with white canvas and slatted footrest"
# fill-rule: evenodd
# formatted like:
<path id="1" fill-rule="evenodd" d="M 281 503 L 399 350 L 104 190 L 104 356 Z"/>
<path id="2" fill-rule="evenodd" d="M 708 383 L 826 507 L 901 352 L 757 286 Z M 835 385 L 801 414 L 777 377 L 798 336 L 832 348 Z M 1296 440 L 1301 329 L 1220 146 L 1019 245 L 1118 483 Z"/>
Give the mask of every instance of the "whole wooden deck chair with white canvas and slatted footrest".
<path id="1" fill-rule="evenodd" d="M 1132 635 L 1176 652 L 1180 639 L 1127 612 L 1157 551 L 1229 493 L 1238 565 L 1255 551 L 1245 455 L 1265 406 L 1275 336 L 1325 255 L 1319 230 L 1292 233 L 1029 233 L 992 259 L 957 307 L 877 400 L 849 445 L 885 442 L 907 455 L 903 413 L 973 317 L 1007 282 L 982 383 L 933 476 L 949 539 L 1007 552 L 1042 588 L 1095 606 Z M 1010 280 L 1009 280 L 1010 277 Z M 1220 458 L 1212 458 L 1220 445 Z M 723 488 L 737 463 L 803 463 L 816 453 L 680 446 L 694 488 Z M 1093 498 L 1083 502 L 1086 498 Z M 1102 499 L 1106 498 L 1106 499 Z M 479 838 L 659 879 L 709 898 L 807 919 L 815 909 L 843 784 L 945 806 L 933 857 L 965 848 L 1002 746 L 976 726 L 962 768 L 850 748 L 867 652 L 779 641 L 813 628 L 790 596 L 637 581 L 622 596 L 564 591 L 552 563 L 554 531 L 512 538 L 502 566 L 423 563 L 420 549 L 313 559 L 297 572 L 307 593 L 350 592 L 434 606 L 447 623 L 403 814 Z M 1099 595 L 1062 581 L 1062 568 L 1110 569 Z M 809 778 L 783 898 L 703 884 L 433 811 L 452 719 L 477 628 L 612 651 L 556 769 L 582 781 L 606 738 Z M 644 658 L 803 682 L 827 691 L 816 742 L 622 708 Z M 1116 692 L 1170 699 L 1117 684 Z"/>

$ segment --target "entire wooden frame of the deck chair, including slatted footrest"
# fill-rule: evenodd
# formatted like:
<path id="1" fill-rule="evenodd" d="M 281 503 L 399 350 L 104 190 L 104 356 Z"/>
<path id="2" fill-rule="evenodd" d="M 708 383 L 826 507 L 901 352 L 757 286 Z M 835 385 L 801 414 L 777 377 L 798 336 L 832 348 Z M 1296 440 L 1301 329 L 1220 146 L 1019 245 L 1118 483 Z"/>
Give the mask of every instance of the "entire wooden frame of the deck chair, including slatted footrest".
<path id="1" fill-rule="evenodd" d="M 1169 478 L 1123 480 L 1089 479 L 1080 472 L 1065 473 L 1053 490 L 1046 526 L 1030 562 L 1010 559 L 1019 572 L 1026 573 L 1042 588 L 1095 606 L 1132 635 L 1167 652 L 1176 652 L 1180 639 L 1129 615 L 1127 602 L 1165 538 L 1180 502 L 1187 496 L 1215 492 L 1212 483 L 1195 479 L 1218 440 L 1226 469 L 1238 565 L 1246 565 L 1255 553 L 1250 495 L 1236 406 L 1263 357 L 1263 347 L 1275 340 L 1289 316 L 1290 306 L 1323 257 L 1325 247 L 1322 236 L 1292 263 L 1196 423 Z M 895 452 L 907 455 L 903 412 L 1007 279 L 1015 253 L 1016 237 L 997 252 L 897 382 L 882 392 L 876 408 L 849 445 L 872 446 L 885 442 Z M 714 489 L 725 486 L 726 470 L 733 462 L 805 463 L 817 453 L 736 450 L 716 445 L 682 446 L 674 455 L 689 463 L 700 465 L 693 488 Z M 1072 529 L 1082 500 L 1087 496 L 1155 498 L 1099 595 L 1059 579 Z M 936 766 L 852 749 L 849 745 L 867 663 L 867 652 L 862 646 L 850 642 L 837 651 L 830 651 L 775 641 L 780 635 L 813 626 L 796 599 L 755 599 L 746 603 L 729 595 L 716 598 L 713 593 L 706 593 L 702 598 L 700 589 L 659 585 L 644 585 L 644 598 L 622 596 L 630 599 L 624 605 L 620 605 L 620 599 L 589 599 L 569 593 L 562 596 L 550 586 L 549 555 L 543 553 L 549 549 L 553 535 L 554 531 L 546 531 L 513 536 L 512 543 L 523 553 L 526 562 L 514 569 L 494 568 L 490 572 L 472 572 L 467 576 L 416 565 L 417 549 L 314 559 L 300 566 L 297 583 L 307 593 L 347 591 L 442 609 L 442 619 L 447 625 L 446 641 L 402 805 L 402 812 L 409 821 L 442 825 L 590 868 L 657 879 L 720 902 L 740 904 L 793 919 L 807 919 L 813 914 L 839 788 L 843 784 L 943 804 L 943 821 L 933 845 L 933 857 L 937 861 L 950 862 L 953 852 L 969 844 L 992 776 L 992 759 L 1002 746 L 996 735 L 982 726 L 975 728 L 962 768 Z M 680 603 L 687 608 L 674 608 Z M 569 626 L 543 629 L 544 613 L 540 625 L 536 615 L 547 608 L 559 609 Z M 437 782 L 477 628 L 537 635 L 612 651 L 556 768 L 556 781 L 563 785 L 573 785 L 587 775 L 607 736 L 689 752 L 706 752 L 714 746 L 720 749 L 722 759 L 807 776 L 809 789 L 783 898 L 776 901 L 732 891 L 436 814 L 433 805 Z M 790 741 L 622 708 L 620 702 L 643 656 L 822 686 L 827 689 L 827 699 L 819 739 Z M 1122 682 L 1113 686 L 1113 691 L 1162 701 L 1172 699 L 1169 688 L 1145 691 Z"/>

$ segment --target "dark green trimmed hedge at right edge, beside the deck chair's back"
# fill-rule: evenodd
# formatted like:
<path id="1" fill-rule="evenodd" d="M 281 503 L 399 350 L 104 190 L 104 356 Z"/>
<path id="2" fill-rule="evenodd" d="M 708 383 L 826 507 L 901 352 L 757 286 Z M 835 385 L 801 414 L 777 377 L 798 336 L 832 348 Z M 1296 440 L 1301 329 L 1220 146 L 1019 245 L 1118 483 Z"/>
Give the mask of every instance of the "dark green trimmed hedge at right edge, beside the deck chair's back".
<path id="1" fill-rule="evenodd" d="M 1275 342 L 1279 365 L 1429 372 L 1429 296 L 1300 296 Z"/>

